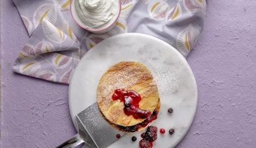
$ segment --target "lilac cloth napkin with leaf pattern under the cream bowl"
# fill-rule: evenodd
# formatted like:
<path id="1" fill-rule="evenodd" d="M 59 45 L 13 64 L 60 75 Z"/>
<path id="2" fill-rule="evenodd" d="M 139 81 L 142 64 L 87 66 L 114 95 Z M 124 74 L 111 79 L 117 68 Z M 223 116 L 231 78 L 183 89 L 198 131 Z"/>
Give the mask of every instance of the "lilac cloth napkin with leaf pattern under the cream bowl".
<path id="1" fill-rule="evenodd" d="M 120 18 L 104 34 L 88 33 L 77 26 L 70 14 L 71 0 L 13 2 L 30 37 L 13 71 L 63 84 L 69 83 L 81 57 L 110 36 L 149 34 L 170 43 L 186 57 L 204 27 L 205 0 L 120 0 Z"/>

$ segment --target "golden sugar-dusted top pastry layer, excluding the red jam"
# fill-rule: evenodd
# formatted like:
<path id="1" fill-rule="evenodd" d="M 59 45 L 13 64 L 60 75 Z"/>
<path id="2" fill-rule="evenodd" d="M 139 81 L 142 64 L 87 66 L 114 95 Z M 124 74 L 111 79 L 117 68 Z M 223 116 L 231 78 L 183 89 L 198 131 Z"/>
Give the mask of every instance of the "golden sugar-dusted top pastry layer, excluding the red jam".
<path id="1" fill-rule="evenodd" d="M 113 100 L 116 90 L 135 91 L 140 95 L 140 110 L 150 114 L 157 108 L 159 93 L 157 84 L 150 71 L 139 62 L 123 61 L 109 68 L 102 76 L 97 87 L 97 102 L 102 115 L 111 123 L 119 126 L 134 126 L 144 119 L 135 119 L 124 112 L 125 103 Z"/>

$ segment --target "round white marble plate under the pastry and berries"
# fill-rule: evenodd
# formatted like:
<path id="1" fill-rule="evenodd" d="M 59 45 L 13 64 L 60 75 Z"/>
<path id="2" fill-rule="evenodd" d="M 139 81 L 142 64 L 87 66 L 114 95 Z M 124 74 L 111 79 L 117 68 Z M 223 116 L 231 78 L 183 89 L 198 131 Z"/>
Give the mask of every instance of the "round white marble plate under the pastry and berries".
<path id="1" fill-rule="evenodd" d="M 69 89 L 70 114 L 74 117 L 96 101 L 97 85 L 103 73 L 120 61 L 138 61 L 152 72 L 159 88 L 161 109 L 152 125 L 158 130 L 153 147 L 174 147 L 186 135 L 196 111 L 197 87 L 186 59 L 162 40 L 138 33 L 126 33 L 101 41 L 77 65 Z M 173 108 L 173 113 L 168 113 Z M 173 135 L 168 130 L 175 129 Z M 143 132 L 143 131 L 141 131 Z M 139 147 L 141 132 L 125 135 L 113 148 Z M 136 136 L 136 142 L 132 142 Z"/>

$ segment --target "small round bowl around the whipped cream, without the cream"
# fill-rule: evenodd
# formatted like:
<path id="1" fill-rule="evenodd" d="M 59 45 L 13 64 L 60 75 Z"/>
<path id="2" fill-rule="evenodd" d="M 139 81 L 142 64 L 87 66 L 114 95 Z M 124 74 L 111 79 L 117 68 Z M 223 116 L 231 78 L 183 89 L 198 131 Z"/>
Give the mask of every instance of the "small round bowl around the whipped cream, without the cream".
<path id="1" fill-rule="evenodd" d="M 78 1 L 78 0 L 72 0 L 71 1 L 71 4 L 70 4 L 70 11 L 71 11 L 71 15 L 74 19 L 74 21 L 80 26 L 82 27 L 83 29 L 86 29 L 87 31 L 91 32 L 91 33 L 95 33 L 95 34 L 103 34 L 103 33 L 106 33 L 108 31 L 110 31 L 111 29 L 113 29 L 113 27 L 115 27 L 116 25 L 116 22 L 120 16 L 120 12 L 121 12 L 121 3 L 120 3 L 120 0 L 117 0 L 118 1 L 118 14 L 112 18 L 110 21 L 110 23 L 108 24 L 108 26 L 104 26 L 104 27 L 98 27 L 98 28 L 88 28 L 86 27 L 86 24 L 83 23 L 83 21 L 81 20 L 81 18 L 79 17 L 79 15 L 77 15 L 77 10 L 76 10 L 76 6 L 75 6 L 75 2 Z M 108 0 L 105 0 L 105 1 L 108 1 Z"/>

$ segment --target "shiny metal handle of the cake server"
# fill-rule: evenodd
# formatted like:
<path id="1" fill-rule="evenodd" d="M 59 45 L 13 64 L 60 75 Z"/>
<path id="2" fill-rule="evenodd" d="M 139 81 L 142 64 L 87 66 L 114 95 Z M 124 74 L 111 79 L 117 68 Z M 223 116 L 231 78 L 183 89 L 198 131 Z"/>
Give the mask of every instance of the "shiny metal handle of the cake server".
<path id="1" fill-rule="evenodd" d="M 64 142 L 63 144 L 59 145 L 56 148 L 73 148 L 83 143 L 84 140 L 80 137 L 79 134 L 77 134 L 76 136 L 70 138 L 70 140 L 67 140 L 66 142 Z"/>

